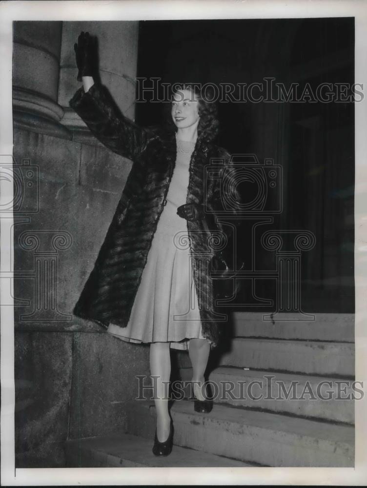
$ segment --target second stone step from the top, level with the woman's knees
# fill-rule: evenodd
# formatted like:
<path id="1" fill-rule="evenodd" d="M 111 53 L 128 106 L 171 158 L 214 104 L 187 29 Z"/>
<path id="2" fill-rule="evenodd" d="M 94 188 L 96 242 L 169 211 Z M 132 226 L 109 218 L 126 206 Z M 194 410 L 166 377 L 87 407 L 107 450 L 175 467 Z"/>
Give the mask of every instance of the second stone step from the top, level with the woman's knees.
<path id="1" fill-rule="evenodd" d="M 177 352 L 177 357 L 179 366 L 191 366 L 186 351 Z M 215 366 L 353 377 L 354 344 L 238 337 Z"/>

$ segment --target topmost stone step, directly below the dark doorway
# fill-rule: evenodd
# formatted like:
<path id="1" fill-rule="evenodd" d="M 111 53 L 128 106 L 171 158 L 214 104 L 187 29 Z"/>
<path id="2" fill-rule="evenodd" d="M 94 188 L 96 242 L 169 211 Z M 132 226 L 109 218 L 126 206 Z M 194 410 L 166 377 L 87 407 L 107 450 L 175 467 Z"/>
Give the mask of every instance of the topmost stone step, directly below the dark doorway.
<path id="1" fill-rule="evenodd" d="M 268 313 L 233 312 L 234 337 L 268 337 L 274 339 L 303 339 L 316 341 L 354 342 L 353 313 L 315 313 L 314 320 L 264 320 Z M 292 320 L 294 319 L 294 320 Z"/>

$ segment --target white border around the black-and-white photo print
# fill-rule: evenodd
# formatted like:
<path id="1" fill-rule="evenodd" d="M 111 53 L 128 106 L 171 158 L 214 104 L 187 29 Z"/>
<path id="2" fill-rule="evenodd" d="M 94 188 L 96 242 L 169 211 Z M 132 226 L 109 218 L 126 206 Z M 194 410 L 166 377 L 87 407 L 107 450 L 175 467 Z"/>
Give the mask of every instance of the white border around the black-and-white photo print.
<path id="1" fill-rule="evenodd" d="M 178 20 L 258 18 L 355 18 L 355 82 L 367 87 L 365 0 L 136 0 L 11 1 L 0 3 L 0 154 L 12 154 L 13 20 Z M 367 385 L 367 101 L 355 104 L 355 352 L 356 381 Z M 12 188 L 0 182 L 0 202 Z M 1 217 L 0 270 L 13 270 L 9 232 Z M 9 266 L 11 266 L 9 268 Z M 0 301 L 10 303 L 0 280 Z M 355 402 L 355 468 L 17 468 L 14 458 L 14 318 L 1 307 L 1 483 L 2 486 L 73 485 L 344 485 L 367 484 L 367 396 Z M 183 483 L 184 481 L 184 483 Z"/>

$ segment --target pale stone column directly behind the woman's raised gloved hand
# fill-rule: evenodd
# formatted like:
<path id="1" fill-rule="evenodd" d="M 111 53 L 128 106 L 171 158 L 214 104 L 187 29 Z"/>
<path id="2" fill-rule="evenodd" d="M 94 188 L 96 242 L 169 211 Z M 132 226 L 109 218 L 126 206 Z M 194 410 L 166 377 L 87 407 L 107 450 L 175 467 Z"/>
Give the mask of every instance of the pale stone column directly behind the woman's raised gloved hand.
<path id="1" fill-rule="evenodd" d="M 74 43 L 78 41 L 82 31 L 97 36 L 101 81 L 110 91 L 122 113 L 130 119 L 134 118 L 138 24 L 138 21 L 63 23 L 58 93 L 58 102 L 65 112 L 62 124 L 73 129 L 85 128 L 84 122 L 69 107 L 69 100 L 81 86 L 81 82 L 77 81 Z"/>

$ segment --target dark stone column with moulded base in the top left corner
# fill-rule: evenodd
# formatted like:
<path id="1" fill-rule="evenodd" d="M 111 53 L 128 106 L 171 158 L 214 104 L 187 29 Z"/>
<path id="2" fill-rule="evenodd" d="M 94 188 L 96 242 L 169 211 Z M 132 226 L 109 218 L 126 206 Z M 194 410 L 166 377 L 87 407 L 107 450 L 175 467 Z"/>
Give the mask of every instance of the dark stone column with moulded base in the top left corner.
<path id="1" fill-rule="evenodd" d="M 13 109 L 15 127 L 70 138 L 58 123 L 57 103 L 62 22 L 13 24 Z"/>

